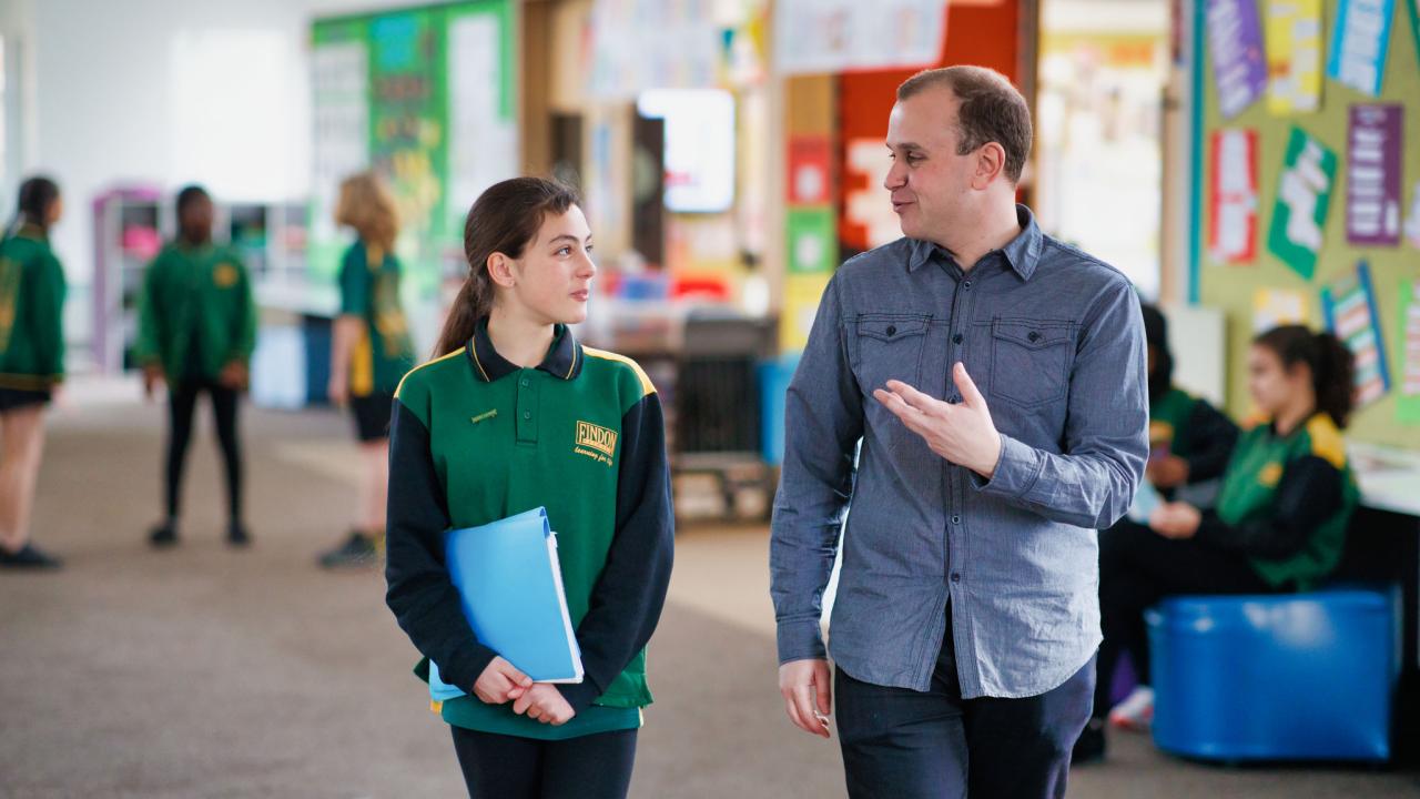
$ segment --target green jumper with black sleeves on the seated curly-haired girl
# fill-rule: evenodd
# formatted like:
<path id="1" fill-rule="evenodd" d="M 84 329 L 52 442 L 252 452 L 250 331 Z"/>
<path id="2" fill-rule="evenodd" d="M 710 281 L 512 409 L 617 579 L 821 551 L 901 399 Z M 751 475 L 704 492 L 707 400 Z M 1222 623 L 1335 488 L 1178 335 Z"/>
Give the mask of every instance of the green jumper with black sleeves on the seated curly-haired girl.
<path id="1" fill-rule="evenodd" d="M 1323 502 L 1316 495 L 1326 493 L 1339 495 L 1326 503 L 1329 512 L 1316 518 L 1304 510 Z M 1305 539 L 1294 540 L 1277 557 L 1255 554 L 1254 549 L 1250 564 L 1272 587 L 1305 591 L 1336 569 L 1346 525 L 1359 502 L 1340 431 L 1331 417 L 1316 414 L 1288 435 L 1277 435 L 1269 424 L 1242 434 L 1223 478 L 1217 519 L 1231 530 L 1227 535 L 1245 542 L 1285 537 L 1287 530 L 1262 530 L 1275 527 L 1278 518 L 1294 518 L 1288 527 Z M 1207 529 L 1200 527 L 1200 535 Z"/>

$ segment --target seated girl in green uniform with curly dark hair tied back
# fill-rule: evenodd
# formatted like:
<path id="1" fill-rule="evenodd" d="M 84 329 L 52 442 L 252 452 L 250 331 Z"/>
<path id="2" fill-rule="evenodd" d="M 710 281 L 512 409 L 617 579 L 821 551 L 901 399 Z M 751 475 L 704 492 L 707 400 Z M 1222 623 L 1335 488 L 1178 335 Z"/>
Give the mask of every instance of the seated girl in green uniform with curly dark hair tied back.
<path id="1" fill-rule="evenodd" d="M 1119 536 L 1099 576 L 1099 682 L 1113 678 L 1120 648 L 1145 637 L 1145 608 L 1176 594 L 1305 591 L 1340 562 L 1359 492 L 1340 431 L 1352 411 L 1353 358 L 1329 333 L 1272 328 L 1252 341 L 1248 390 L 1267 422 L 1242 434 L 1223 473 L 1217 508 L 1159 506 L 1149 529 Z M 1147 657 L 1136 664 L 1145 682 Z M 1099 715 L 1099 711 L 1096 711 Z M 1105 754 L 1096 718 L 1078 761 Z"/>

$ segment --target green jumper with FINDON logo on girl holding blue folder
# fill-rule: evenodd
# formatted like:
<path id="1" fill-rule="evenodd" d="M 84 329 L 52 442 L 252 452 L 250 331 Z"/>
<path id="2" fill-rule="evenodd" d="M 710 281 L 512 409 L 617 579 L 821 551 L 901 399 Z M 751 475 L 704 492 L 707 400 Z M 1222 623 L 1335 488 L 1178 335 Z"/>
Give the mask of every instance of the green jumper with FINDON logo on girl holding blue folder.
<path id="1" fill-rule="evenodd" d="M 496 653 L 474 637 L 443 564 L 446 530 L 538 506 L 558 533 L 586 675 L 558 685 L 577 712 L 562 726 L 473 695 Z M 652 701 L 645 647 L 665 603 L 673 539 L 660 402 L 629 358 L 582 347 L 558 327 L 542 364 L 520 368 L 480 323 L 466 347 L 400 384 L 386 601 L 444 681 L 469 694 L 433 705 L 449 724 L 540 739 L 639 728 Z"/>

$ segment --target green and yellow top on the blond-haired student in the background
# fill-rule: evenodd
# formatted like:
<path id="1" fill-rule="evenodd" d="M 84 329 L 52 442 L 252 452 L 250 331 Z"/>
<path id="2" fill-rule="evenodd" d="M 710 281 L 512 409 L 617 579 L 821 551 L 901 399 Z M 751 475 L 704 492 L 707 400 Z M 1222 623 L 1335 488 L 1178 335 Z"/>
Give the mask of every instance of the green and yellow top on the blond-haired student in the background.
<path id="1" fill-rule="evenodd" d="M 341 314 L 358 316 L 365 336 L 355 344 L 349 364 L 354 397 L 390 395 L 415 365 L 409 324 L 399 304 L 399 259 L 372 252 L 355 242 L 341 259 Z"/>

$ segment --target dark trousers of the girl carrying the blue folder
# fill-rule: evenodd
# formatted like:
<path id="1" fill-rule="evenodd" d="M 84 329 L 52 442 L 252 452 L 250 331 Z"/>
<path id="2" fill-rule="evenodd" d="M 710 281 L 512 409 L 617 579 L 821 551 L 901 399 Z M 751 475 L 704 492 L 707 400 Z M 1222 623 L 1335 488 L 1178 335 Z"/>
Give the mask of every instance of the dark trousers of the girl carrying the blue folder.
<path id="1" fill-rule="evenodd" d="M 534 741 L 450 725 L 469 799 L 625 799 L 636 731 Z"/>

